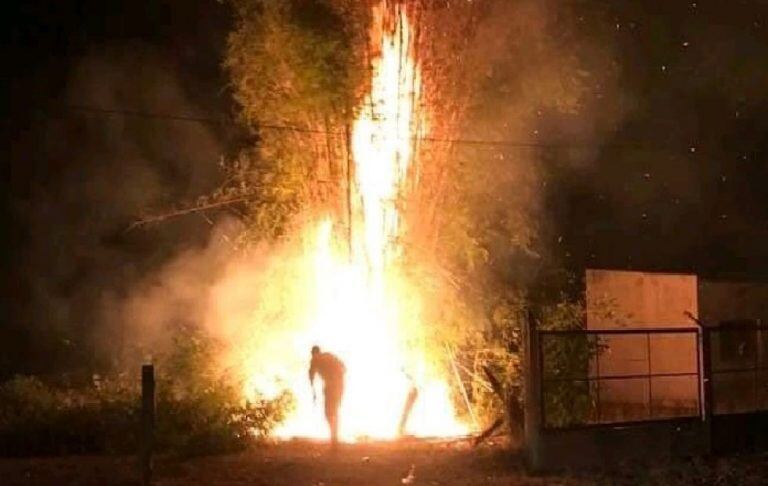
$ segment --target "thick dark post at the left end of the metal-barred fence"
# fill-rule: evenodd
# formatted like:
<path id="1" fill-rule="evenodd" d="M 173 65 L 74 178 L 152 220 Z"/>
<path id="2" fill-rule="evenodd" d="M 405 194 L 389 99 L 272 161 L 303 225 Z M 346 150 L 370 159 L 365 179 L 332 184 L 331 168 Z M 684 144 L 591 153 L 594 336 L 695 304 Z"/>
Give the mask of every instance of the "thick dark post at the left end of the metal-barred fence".
<path id="1" fill-rule="evenodd" d="M 524 370 L 524 413 L 525 413 L 525 452 L 528 466 L 533 470 L 541 469 L 541 369 L 539 333 L 536 318 L 528 310 L 525 320 L 524 336 L 525 370 Z"/>

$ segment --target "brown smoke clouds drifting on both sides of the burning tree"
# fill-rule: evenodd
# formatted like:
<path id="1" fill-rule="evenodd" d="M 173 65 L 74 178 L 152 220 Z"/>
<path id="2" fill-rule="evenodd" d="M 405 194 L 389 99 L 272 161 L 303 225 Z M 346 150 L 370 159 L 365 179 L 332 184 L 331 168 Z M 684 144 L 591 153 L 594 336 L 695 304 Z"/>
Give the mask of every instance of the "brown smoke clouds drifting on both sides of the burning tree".
<path id="1" fill-rule="evenodd" d="M 620 96 L 610 44 L 577 32 L 577 18 L 556 3 L 491 6 L 460 60 L 480 75 L 461 138 L 523 145 L 599 140 L 623 106 L 615 103 Z M 191 101 L 200 94 L 185 91 L 185 76 L 150 46 L 102 47 L 71 66 L 56 104 L 205 117 Z M 258 287 L 269 282 L 246 275 L 274 272 L 266 269 L 274 268 L 282 250 L 243 260 L 228 243 L 237 232 L 234 223 L 214 229 L 198 216 L 125 232 L 137 215 L 215 187 L 223 135 L 202 124 L 55 109 L 36 124 L 43 128 L 27 134 L 17 156 L 31 161 L 34 184 L 15 198 L 25 230 L 19 275 L 29 294 L 15 314 L 35 329 L 39 361 L 51 350 L 60 356 L 50 361 L 59 364 L 84 355 L 103 360 L 121 349 L 157 351 L 168 329 L 182 323 L 236 342 L 239 323 L 250 322 L 245 314 L 258 302 L 246 305 L 242 297 L 221 307 L 219 289 L 239 295 L 233 282 L 255 279 L 258 285 L 249 280 L 242 287 L 263 298 Z M 548 154 L 491 146 L 461 155 L 474 161 L 476 224 L 484 231 L 506 228 L 485 231 L 491 265 L 502 273 L 520 268 L 511 264 L 519 263 L 519 249 L 526 259 L 542 252 Z M 583 171 L 594 155 L 558 152 L 558 163 Z"/>

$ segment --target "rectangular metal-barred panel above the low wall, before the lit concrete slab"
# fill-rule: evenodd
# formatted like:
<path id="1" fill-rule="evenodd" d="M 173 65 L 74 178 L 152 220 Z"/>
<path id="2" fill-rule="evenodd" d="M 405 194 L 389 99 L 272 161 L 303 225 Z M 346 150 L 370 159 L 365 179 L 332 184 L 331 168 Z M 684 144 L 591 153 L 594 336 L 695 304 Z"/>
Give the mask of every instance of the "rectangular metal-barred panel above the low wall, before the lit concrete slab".
<path id="1" fill-rule="evenodd" d="M 538 333 L 544 429 L 701 417 L 697 328 Z"/>

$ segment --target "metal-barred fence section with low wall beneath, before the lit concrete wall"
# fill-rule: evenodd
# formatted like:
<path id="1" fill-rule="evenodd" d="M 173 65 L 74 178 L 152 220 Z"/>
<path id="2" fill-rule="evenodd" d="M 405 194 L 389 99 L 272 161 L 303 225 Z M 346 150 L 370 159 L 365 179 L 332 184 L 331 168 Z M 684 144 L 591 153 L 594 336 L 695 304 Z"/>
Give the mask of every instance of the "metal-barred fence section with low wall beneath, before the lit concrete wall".
<path id="1" fill-rule="evenodd" d="M 698 328 L 529 326 L 525 335 L 525 439 L 534 469 L 709 451 Z"/>

